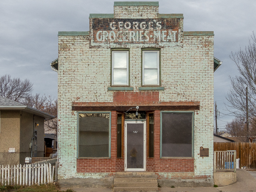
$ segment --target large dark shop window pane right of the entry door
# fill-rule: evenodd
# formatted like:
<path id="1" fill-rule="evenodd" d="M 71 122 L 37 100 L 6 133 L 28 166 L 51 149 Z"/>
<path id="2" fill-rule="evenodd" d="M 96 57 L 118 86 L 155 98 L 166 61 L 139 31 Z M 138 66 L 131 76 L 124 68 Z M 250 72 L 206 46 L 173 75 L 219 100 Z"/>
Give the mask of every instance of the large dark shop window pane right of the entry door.
<path id="1" fill-rule="evenodd" d="M 193 156 L 193 112 L 161 112 L 161 157 Z"/>

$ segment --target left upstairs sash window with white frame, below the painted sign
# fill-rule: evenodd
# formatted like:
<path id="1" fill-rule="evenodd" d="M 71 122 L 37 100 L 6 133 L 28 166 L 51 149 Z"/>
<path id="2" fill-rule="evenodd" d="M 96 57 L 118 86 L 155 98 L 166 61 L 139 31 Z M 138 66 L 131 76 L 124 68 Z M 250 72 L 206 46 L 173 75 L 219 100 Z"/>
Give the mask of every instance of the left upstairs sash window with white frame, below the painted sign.
<path id="1" fill-rule="evenodd" d="M 129 85 L 129 51 L 112 51 L 112 85 Z"/>

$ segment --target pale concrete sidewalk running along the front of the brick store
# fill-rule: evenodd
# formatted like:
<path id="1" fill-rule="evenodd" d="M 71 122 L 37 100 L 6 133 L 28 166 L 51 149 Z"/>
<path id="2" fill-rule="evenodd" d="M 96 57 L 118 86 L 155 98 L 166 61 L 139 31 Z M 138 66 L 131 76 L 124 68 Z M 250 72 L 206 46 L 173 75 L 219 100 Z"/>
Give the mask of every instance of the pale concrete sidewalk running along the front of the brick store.
<path id="1" fill-rule="evenodd" d="M 160 192 L 256 192 L 256 171 L 236 170 L 236 183 L 224 187 L 160 188 Z M 67 188 L 62 188 L 66 190 Z M 112 192 L 111 188 L 72 188 L 75 192 Z"/>

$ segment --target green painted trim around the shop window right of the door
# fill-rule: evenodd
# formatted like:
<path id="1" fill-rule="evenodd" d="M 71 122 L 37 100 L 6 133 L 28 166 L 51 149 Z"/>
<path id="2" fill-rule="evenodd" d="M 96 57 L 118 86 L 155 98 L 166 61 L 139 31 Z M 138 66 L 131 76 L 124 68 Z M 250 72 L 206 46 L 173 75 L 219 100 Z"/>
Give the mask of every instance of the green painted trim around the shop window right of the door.
<path id="1" fill-rule="evenodd" d="M 162 114 L 163 113 L 192 113 L 192 157 L 162 157 Z M 194 111 L 161 111 L 160 112 L 160 158 L 177 159 L 177 158 L 194 158 Z"/>

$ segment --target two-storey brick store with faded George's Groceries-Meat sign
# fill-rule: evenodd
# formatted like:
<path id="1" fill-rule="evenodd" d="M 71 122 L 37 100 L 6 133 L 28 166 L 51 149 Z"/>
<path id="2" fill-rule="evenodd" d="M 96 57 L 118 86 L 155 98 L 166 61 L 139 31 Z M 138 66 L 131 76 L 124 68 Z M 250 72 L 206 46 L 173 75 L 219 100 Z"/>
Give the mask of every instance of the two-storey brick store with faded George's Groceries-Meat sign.
<path id="1" fill-rule="evenodd" d="M 161 186 L 213 186 L 214 33 L 184 32 L 183 14 L 158 2 L 114 2 L 89 20 L 89 32 L 58 33 L 52 62 L 58 178 L 111 186 L 141 171 Z"/>

